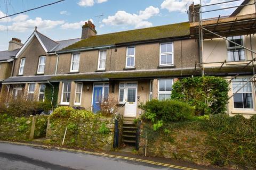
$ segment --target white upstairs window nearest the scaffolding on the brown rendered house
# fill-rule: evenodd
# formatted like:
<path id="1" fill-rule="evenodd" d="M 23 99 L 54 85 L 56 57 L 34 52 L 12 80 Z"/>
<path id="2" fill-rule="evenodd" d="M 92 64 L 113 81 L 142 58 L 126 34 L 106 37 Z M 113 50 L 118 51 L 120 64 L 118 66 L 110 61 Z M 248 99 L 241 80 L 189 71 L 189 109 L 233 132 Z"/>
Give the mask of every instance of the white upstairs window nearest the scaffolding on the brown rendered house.
<path id="1" fill-rule="evenodd" d="M 173 43 L 160 44 L 160 66 L 173 65 Z"/>

